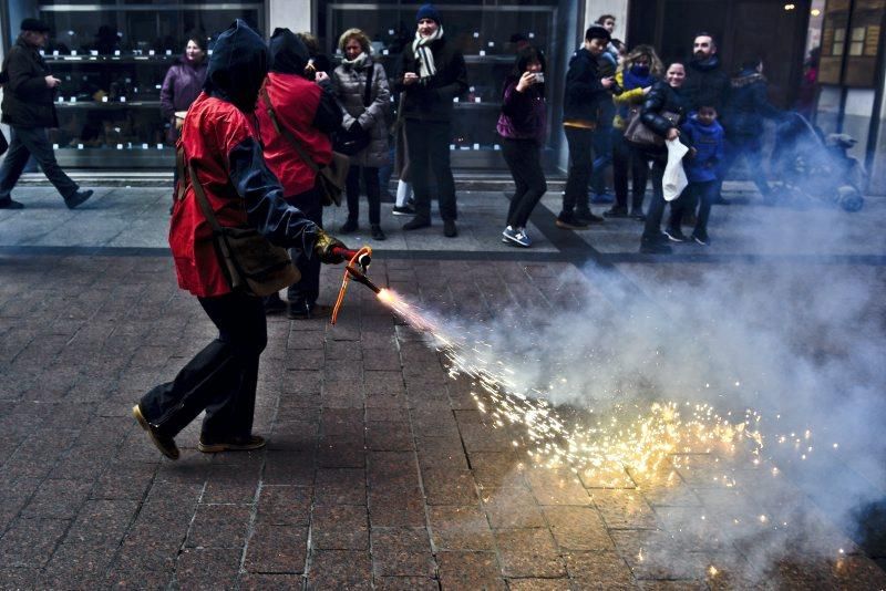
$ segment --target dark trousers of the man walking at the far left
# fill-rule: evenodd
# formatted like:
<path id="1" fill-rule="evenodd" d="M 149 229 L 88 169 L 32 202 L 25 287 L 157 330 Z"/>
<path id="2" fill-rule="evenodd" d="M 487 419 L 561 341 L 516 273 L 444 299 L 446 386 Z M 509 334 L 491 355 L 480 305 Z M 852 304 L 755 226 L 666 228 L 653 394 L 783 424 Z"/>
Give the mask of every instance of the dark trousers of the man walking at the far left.
<path id="1" fill-rule="evenodd" d="M 10 198 L 10 191 L 16 183 L 19 182 L 28 158 L 33 156 L 40 165 L 43 174 L 65 199 L 71 197 L 80 188 L 71 177 L 64 174 L 59 163 L 55 162 L 55 154 L 52 152 L 52 144 L 47 137 L 45 127 L 18 127 L 10 126 L 10 142 L 7 157 L 0 165 L 0 201 Z"/>

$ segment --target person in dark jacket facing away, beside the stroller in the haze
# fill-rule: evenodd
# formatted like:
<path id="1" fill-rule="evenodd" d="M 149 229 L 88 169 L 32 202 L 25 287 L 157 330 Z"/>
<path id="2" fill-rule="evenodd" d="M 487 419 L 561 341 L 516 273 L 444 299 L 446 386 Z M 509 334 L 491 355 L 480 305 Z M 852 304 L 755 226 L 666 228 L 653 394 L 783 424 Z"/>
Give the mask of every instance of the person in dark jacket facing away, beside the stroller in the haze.
<path id="1" fill-rule="evenodd" d="M 769 102 L 767 86 L 760 58 L 745 60 L 739 75 L 732 79 L 732 93 L 723 115 L 728 141 L 720 176 L 725 177 L 735 159 L 744 157 L 763 203 L 772 205 L 774 197 L 763 168 L 763 122 L 780 121 L 783 114 Z"/>

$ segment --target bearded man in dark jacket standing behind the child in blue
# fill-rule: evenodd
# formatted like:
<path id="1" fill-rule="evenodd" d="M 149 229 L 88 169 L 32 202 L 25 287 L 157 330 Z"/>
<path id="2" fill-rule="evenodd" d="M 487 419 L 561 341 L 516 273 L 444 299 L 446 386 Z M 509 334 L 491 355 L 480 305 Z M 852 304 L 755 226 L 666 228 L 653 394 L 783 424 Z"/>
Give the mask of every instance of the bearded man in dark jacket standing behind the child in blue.
<path id="1" fill-rule="evenodd" d="M 723 71 L 720 56 L 717 54 L 717 43 L 711 33 L 701 32 L 692 42 L 692 60 L 686 69 L 687 80 L 683 84 L 683 95 L 690 113 L 697 112 L 701 106 L 712 106 L 718 113 L 724 113 L 729 101 L 731 80 Z M 725 127 L 727 121 L 721 122 Z M 714 204 L 729 205 L 720 194 L 723 186 L 723 170 L 718 172 L 717 197 Z"/>

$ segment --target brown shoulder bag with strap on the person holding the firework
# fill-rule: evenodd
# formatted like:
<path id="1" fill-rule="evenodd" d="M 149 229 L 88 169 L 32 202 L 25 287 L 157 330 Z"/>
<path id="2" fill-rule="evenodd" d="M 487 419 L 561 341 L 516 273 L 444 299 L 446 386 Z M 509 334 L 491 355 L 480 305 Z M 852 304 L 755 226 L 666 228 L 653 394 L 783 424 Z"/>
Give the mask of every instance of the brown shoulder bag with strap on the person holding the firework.
<path id="1" fill-rule="evenodd" d="M 178 165 L 176 199 L 182 200 L 185 197 L 185 151 L 181 146 L 176 159 Z M 262 298 L 297 283 L 301 279 L 301 273 L 292 265 L 289 252 L 282 247 L 270 243 L 255 228 L 228 228 L 219 225 L 197 178 L 197 172 L 190 163 L 187 164 L 187 169 L 197 203 L 213 228 L 216 256 L 230 289 Z"/>

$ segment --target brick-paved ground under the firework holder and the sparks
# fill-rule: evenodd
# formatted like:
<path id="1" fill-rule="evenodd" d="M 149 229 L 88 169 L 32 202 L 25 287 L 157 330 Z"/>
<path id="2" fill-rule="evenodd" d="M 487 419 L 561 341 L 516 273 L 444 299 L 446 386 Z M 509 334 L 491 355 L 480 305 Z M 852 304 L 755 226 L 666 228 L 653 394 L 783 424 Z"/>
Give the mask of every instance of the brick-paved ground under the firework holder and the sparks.
<path id="1" fill-rule="evenodd" d="M 866 554 L 826 515 L 821 531 L 841 540 L 839 557 L 797 550 L 771 564 L 683 531 L 674 516 L 687 511 L 761 512 L 753 487 L 711 484 L 717 453 L 673 455 L 609 488 L 533 465 L 512 443 L 521 428 L 490 424 L 471 381 L 451 379 L 445 359 L 359 286 L 336 326 L 269 319 L 255 422 L 266 450 L 200 454 L 194 424 L 177 437 L 182 459 L 162 459 L 132 404 L 215 336 L 175 284 L 168 194 L 99 189 L 69 211 L 51 189 L 23 188 L 16 198 L 25 209 L 0 211 L 0 588 L 886 585 L 872 560 L 886 553 Z M 670 259 L 636 252 L 636 221 L 557 230 L 556 195 L 534 216 L 529 250 L 501 242 L 501 193 L 462 194 L 460 206 L 454 240 L 439 222 L 404 235 L 388 206 L 390 240 L 348 242 L 375 248 L 377 282 L 473 321 L 504 309 L 580 314 L 585 292 L 615 303 L 589 263 L 652 301 L 713 267 L 751 291 L 765 291 L 783 265 L 886 279 L 877 200 L 855 215 L 715 208 L 713 246 Z M 330 214 L 334 232 L 342 212 Z M 823 216 L 833 240 L 785 230 L 789 219 L 820 227 Z M 339 280 L 324 271 L 324 299 Z M 868 305 L 883 318 L 882 301 Z M 783 487 L 806 499 L 786 478 Z"/>

